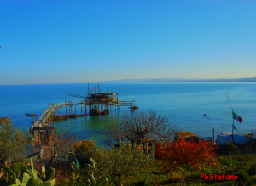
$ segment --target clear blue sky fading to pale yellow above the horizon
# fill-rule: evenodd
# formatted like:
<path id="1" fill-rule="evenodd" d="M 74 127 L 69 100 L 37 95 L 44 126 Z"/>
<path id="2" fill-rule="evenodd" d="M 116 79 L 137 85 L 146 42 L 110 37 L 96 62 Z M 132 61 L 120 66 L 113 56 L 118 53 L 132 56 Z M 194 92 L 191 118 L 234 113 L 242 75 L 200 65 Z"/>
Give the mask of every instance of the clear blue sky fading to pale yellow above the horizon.
<path id="1" fill-rule="evenodd" d="M 0 85 L 256 76 L 256 1 L 0 0 Z"/>

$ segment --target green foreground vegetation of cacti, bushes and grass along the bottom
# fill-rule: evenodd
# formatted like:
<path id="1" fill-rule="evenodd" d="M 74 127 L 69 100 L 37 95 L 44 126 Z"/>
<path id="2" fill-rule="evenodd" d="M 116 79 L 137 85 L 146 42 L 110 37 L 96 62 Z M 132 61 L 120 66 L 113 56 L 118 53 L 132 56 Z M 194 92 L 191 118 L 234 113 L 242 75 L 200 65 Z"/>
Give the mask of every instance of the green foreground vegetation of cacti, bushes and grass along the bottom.
<path id="1" fill-rule="evenodd" d="M 181 150 L 182 151 L 182 150 Z M 190 151 L 191 152 L 191 151 Z M 198 151 L 196 151 L 198 153 Z M 4 172 L 1 180 L 6 185 L 21 185 L 20 183 L 33 183 L 37 185 L 54 183 L 54 175 L 58 181 L 57 185 L 253 185 L 256 184 L 256 154 L 234 154 L 221 155 L 214 161 L 216 166 L 183 166 L 182 159 L 179 164 L 170 165 L 165 168 L 165 161 L 153 161 L 144 153 L 143 149 L 132 146 L 132 144 L 121 143 L 119 149 L 96 149 L 95 159 L 90 158 L 90 163 L 79 166 L 79 162 L 67 165 L 72 170 L 67 171 L 65 177 L 60 177 L 60 173 L 66 172 L 68 168 L 61 169 L 61 166 L 49 168 L 45 171 L 25 168 L 21 163 L 12 167 L 1 165 Z M 186 159 L 185 159 L 186 160 Z M 65 161 L 65 160 L 63 160 Z M 197 163 L 201 163 L 200 161 Z M 33 171 L 32 171 L 33 170 Z M 32 174 L 34 172 L 34 174 Z M 20 176 L 17 176 L 20 173 Z M 201 173 L 207 175 L 236 175 L 237 180 L 201 179 Z M 31 180 L 31 181 L 29 181 Z M 40 181 L 41 180 L 41 181 Z M 54 180 L 54 181 L 53 181 Z M 39 184 L 39 185 L 40 185 Z M 43 185 L 43 184 L 42 184 Z"/>

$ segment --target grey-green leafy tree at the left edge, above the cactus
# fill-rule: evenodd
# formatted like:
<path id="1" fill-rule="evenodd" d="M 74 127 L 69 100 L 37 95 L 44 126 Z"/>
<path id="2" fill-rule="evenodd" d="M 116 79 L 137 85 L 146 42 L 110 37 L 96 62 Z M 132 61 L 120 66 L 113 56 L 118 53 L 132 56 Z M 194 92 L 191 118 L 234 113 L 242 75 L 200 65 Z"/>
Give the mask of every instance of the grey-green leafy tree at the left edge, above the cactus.
<path id="1" fill-rule="evenodd" d="M 0 127 L 0 161 L 24 161 L 26 148 L 29 144 L 29 134 L 22 132 L 21 128 L 14 129 L 11 122 L 3 123 Z"/>

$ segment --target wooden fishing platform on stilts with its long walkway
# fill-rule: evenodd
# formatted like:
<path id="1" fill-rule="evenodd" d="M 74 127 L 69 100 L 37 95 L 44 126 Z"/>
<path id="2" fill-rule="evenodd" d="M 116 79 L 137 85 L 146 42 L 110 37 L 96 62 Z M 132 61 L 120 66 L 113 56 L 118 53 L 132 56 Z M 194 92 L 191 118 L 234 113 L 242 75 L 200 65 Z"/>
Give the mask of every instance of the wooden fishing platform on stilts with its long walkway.
<path id="1" fill-rule="evenodd" d="M 63 91 L 62 91 L 63 92 Z M 63 92 L 65 93 L 65 92 Z M 48 108 L 44 110 L 44 113 L 39 117 L 37 121 L 32 122 L 32 141 L 34 144 L 44 144 L 44 141 L 48 141 L 49 136 L 52 134 L 53 121 L 55 120 L 67 120 L 68 118 L 76 118 L 79 116 L 100 116 L 114 113 L 120 110 L 120 107 L 126 108 L 127 106 L 131 111 L 137 109 L 135 105 L 135 99 L 131 101 L 119 100 L 119 93 L 114 92 L 102 92 L 101 89 L 96 87 L 94 89 L 89 88 L 87 96 L 81 96 L 76 94 L 65 93 L 75 98 L 83 98 L 84 100 L 65 101 L 59 104 L 50 104 Z M 79 112 L 80 107 L 80 114 Z M 88 113 L 89 110 L 89 113 Z M 61 114 L 64 115 L 61 115 Z"/>

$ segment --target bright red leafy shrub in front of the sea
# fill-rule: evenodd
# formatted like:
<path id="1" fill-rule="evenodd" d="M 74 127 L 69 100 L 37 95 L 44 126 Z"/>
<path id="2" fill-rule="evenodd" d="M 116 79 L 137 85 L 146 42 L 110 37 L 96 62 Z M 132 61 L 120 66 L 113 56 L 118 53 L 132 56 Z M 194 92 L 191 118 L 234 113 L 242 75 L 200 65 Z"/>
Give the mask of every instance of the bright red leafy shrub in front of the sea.
<path id="1" fill-rule="evenodd" d="M 163 155 L 164 166 L 176 168 L 177 166 L 193 166 L 201 169 L 203 166 L 215 166 L 217 161 L 216 147 L 211 142 L 199 139 L 186 141 L 179 138 L 176 142 L 167 144 L 167 147 L 161 151 Z"/>

